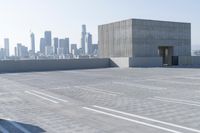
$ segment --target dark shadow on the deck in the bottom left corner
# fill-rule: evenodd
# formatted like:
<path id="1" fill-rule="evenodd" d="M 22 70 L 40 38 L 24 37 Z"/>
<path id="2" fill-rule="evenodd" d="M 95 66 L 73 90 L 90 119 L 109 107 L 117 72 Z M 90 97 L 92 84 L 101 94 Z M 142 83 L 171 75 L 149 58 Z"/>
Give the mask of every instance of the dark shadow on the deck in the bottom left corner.
<path id="1" fill-rule="evenodd" d="M 33 124 L 22 123 L 12 120 L 0 119 L 0 133 L 45 133 L 41 127 Z"/>

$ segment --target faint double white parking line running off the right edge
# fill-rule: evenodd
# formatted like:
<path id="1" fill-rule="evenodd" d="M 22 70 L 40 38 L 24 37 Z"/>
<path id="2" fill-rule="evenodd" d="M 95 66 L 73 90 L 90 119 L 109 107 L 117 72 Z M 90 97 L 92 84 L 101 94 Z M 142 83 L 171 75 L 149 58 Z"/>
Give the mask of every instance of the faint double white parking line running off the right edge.
<path id="1" fill-rule="evenodd" d="M 199 102 L 193 102 L 193 101 L 188 101 L 188 100 L 159 98 L 159 97 L 149 98 L 149 99 L 157 100 L 157 101 L 161 101 L 161 102 L 178 103 L 178 104 L 184 104 L 184 105 L 190 105 L 190 106 L 198 106 L 198 107 L 200 107 L 200 103 Z"/>

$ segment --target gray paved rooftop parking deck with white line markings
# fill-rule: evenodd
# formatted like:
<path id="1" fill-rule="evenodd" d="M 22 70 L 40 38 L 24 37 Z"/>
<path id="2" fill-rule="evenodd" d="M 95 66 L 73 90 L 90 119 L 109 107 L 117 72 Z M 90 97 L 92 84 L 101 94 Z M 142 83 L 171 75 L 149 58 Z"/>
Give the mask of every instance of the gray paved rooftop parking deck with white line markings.
<path id="1" fill-rule="evenodd" d="M 200 133 L 200 69 L 0 75 L 3 133 Z"/>

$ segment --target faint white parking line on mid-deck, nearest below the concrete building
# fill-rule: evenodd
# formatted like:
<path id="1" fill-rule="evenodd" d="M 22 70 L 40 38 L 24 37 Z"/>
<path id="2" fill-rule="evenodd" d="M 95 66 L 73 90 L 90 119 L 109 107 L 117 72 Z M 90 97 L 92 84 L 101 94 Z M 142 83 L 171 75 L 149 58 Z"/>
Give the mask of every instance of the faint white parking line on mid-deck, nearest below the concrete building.
<path id="1" fill-rule="evenodd" d="M 113 82 L 114 84 L 120 84 L 120 85 L 127 85 L 127 86 L 133 86 L 138 87 L 142 89 L 150 89 L 150 90 L 166 90 L 167 88 L 163 87 L 156 87 L 156 86 L 149 86 L 149 85 L 142 85 L 142 84 L 131 84 L 131 83 L 124 83 L 124 82 Z"/>

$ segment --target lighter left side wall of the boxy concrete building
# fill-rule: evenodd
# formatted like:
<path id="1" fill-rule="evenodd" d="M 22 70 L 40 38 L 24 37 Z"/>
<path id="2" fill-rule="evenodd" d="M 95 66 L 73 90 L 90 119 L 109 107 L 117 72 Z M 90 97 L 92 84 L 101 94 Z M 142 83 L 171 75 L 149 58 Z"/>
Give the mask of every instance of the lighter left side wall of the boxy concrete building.
<path id="1" fill-rule="evenodd" d="M 99 57 L 132 57 L 132 20 L 98 27 Z"/>

